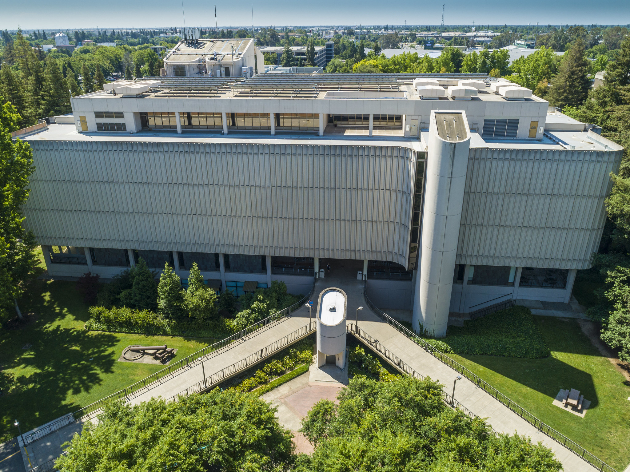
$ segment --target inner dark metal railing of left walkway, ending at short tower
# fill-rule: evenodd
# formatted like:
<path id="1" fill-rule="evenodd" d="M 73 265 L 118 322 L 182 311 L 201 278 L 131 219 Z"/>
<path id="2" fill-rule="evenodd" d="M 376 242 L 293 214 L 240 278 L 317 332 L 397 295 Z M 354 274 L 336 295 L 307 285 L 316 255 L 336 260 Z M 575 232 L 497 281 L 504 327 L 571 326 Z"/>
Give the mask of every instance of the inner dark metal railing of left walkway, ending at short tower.
<path id="1" fill-rule="evenodd" d="M 282 339 L 277 340 L 276 342 L 272 342 L 269 346 L 263 347 L 260 351 L 256 351 L 254 354 L 251 354 L 244 359 L 241 359 L 238 362 L 234 362 L 231 366 L 227 366 L 219 372 L 216 372 L 209 377 L 204 378 L 202 381 L 193 385 L 192 387 L 186 388 L 186 390 L 181 391 L 177 395 L 171 396 L 168 398 L 166 402 L 175 402 L 180 398 L 180 396 L 189 396 L 192 393 L 201 393 L 203 391 L 210 390 L 214 386 L 218 385 L 222 381 L 238 374 L 247 369 L 251 368 L 251 366 L 257 364 L 258 362 L 265 359 L 265 357 L 273 356 L 278 351 L 282 351 L 289 344 L 293 344 L 294 342 L 299 341 L 300 339 L 306 337 L 311 332 L 316 330 L 317 322 L 310 322 L 306 326 L 302 326 L 300 329 L 295 330 L 294 332 L 287 334 Z"/>

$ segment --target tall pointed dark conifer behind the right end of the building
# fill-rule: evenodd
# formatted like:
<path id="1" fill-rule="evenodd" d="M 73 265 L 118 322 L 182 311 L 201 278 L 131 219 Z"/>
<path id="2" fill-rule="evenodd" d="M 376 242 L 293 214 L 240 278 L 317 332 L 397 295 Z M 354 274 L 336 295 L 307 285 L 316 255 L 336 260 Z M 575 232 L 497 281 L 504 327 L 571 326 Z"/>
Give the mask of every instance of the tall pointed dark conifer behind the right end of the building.
<path id="1" fill-rule="evenodd" d="M 588 65 L 584 42 L 578 39 L 573 43 L 553 80 L 553 87 L 549 92 L 549 103 L 552 106 L 580 106 L 585 101 L 591 86 L 587 76 Z"/>

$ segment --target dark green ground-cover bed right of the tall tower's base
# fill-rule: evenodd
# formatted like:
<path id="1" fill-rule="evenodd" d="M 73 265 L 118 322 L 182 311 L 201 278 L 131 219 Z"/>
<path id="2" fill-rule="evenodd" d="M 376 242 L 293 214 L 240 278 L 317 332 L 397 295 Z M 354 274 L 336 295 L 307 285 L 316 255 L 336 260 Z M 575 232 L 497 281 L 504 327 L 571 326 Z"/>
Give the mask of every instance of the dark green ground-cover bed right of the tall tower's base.
<path id="1" fill-rule="evenodd" d="M 444 339 L 425 339 L 442 352 L 476 356 L 524 357 L 538 359 L 551 354 L 525 306 L 512 306 L 483 318 L 450 326 Z M 442 346 L 442 347 L 440 347 Z M 442 349 L 444 348 L 444 349 Z"/>

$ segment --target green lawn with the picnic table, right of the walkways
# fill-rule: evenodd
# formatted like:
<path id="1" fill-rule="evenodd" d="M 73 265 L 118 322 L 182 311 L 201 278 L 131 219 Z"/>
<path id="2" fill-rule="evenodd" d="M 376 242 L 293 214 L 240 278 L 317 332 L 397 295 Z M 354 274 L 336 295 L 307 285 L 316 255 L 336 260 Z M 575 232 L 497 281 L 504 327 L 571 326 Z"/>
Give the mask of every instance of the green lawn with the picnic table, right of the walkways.
<path id="1" fill-rule="evenodd" d="M 577 321 L 534 317 L 551 356 L 520 359 L 449 356 L 530 413 L 623 471 L 630 463 L 630 383 L 603 357 Z M 592 403 L 584 418 L 551 404 L 560 388 L 576 388 Z"/>

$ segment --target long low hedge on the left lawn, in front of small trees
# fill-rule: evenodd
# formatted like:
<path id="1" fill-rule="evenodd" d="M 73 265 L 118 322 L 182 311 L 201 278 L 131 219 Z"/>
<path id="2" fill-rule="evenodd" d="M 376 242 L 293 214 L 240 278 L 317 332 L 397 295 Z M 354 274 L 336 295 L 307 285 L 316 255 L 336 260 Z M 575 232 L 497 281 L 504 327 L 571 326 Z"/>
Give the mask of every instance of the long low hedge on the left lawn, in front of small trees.
<path id="1" fill-rule="evenodd" d="M 231 320 L 213 321 L 166 320 L 150 310 L 134 310 L 123 306 L 111 310 L 103 306 L 89 307 L 90 319 L 85 328 L 93 331 L 112 331 L 129 334 L 151 334 L 224 339 L 236 330 Z"/>

